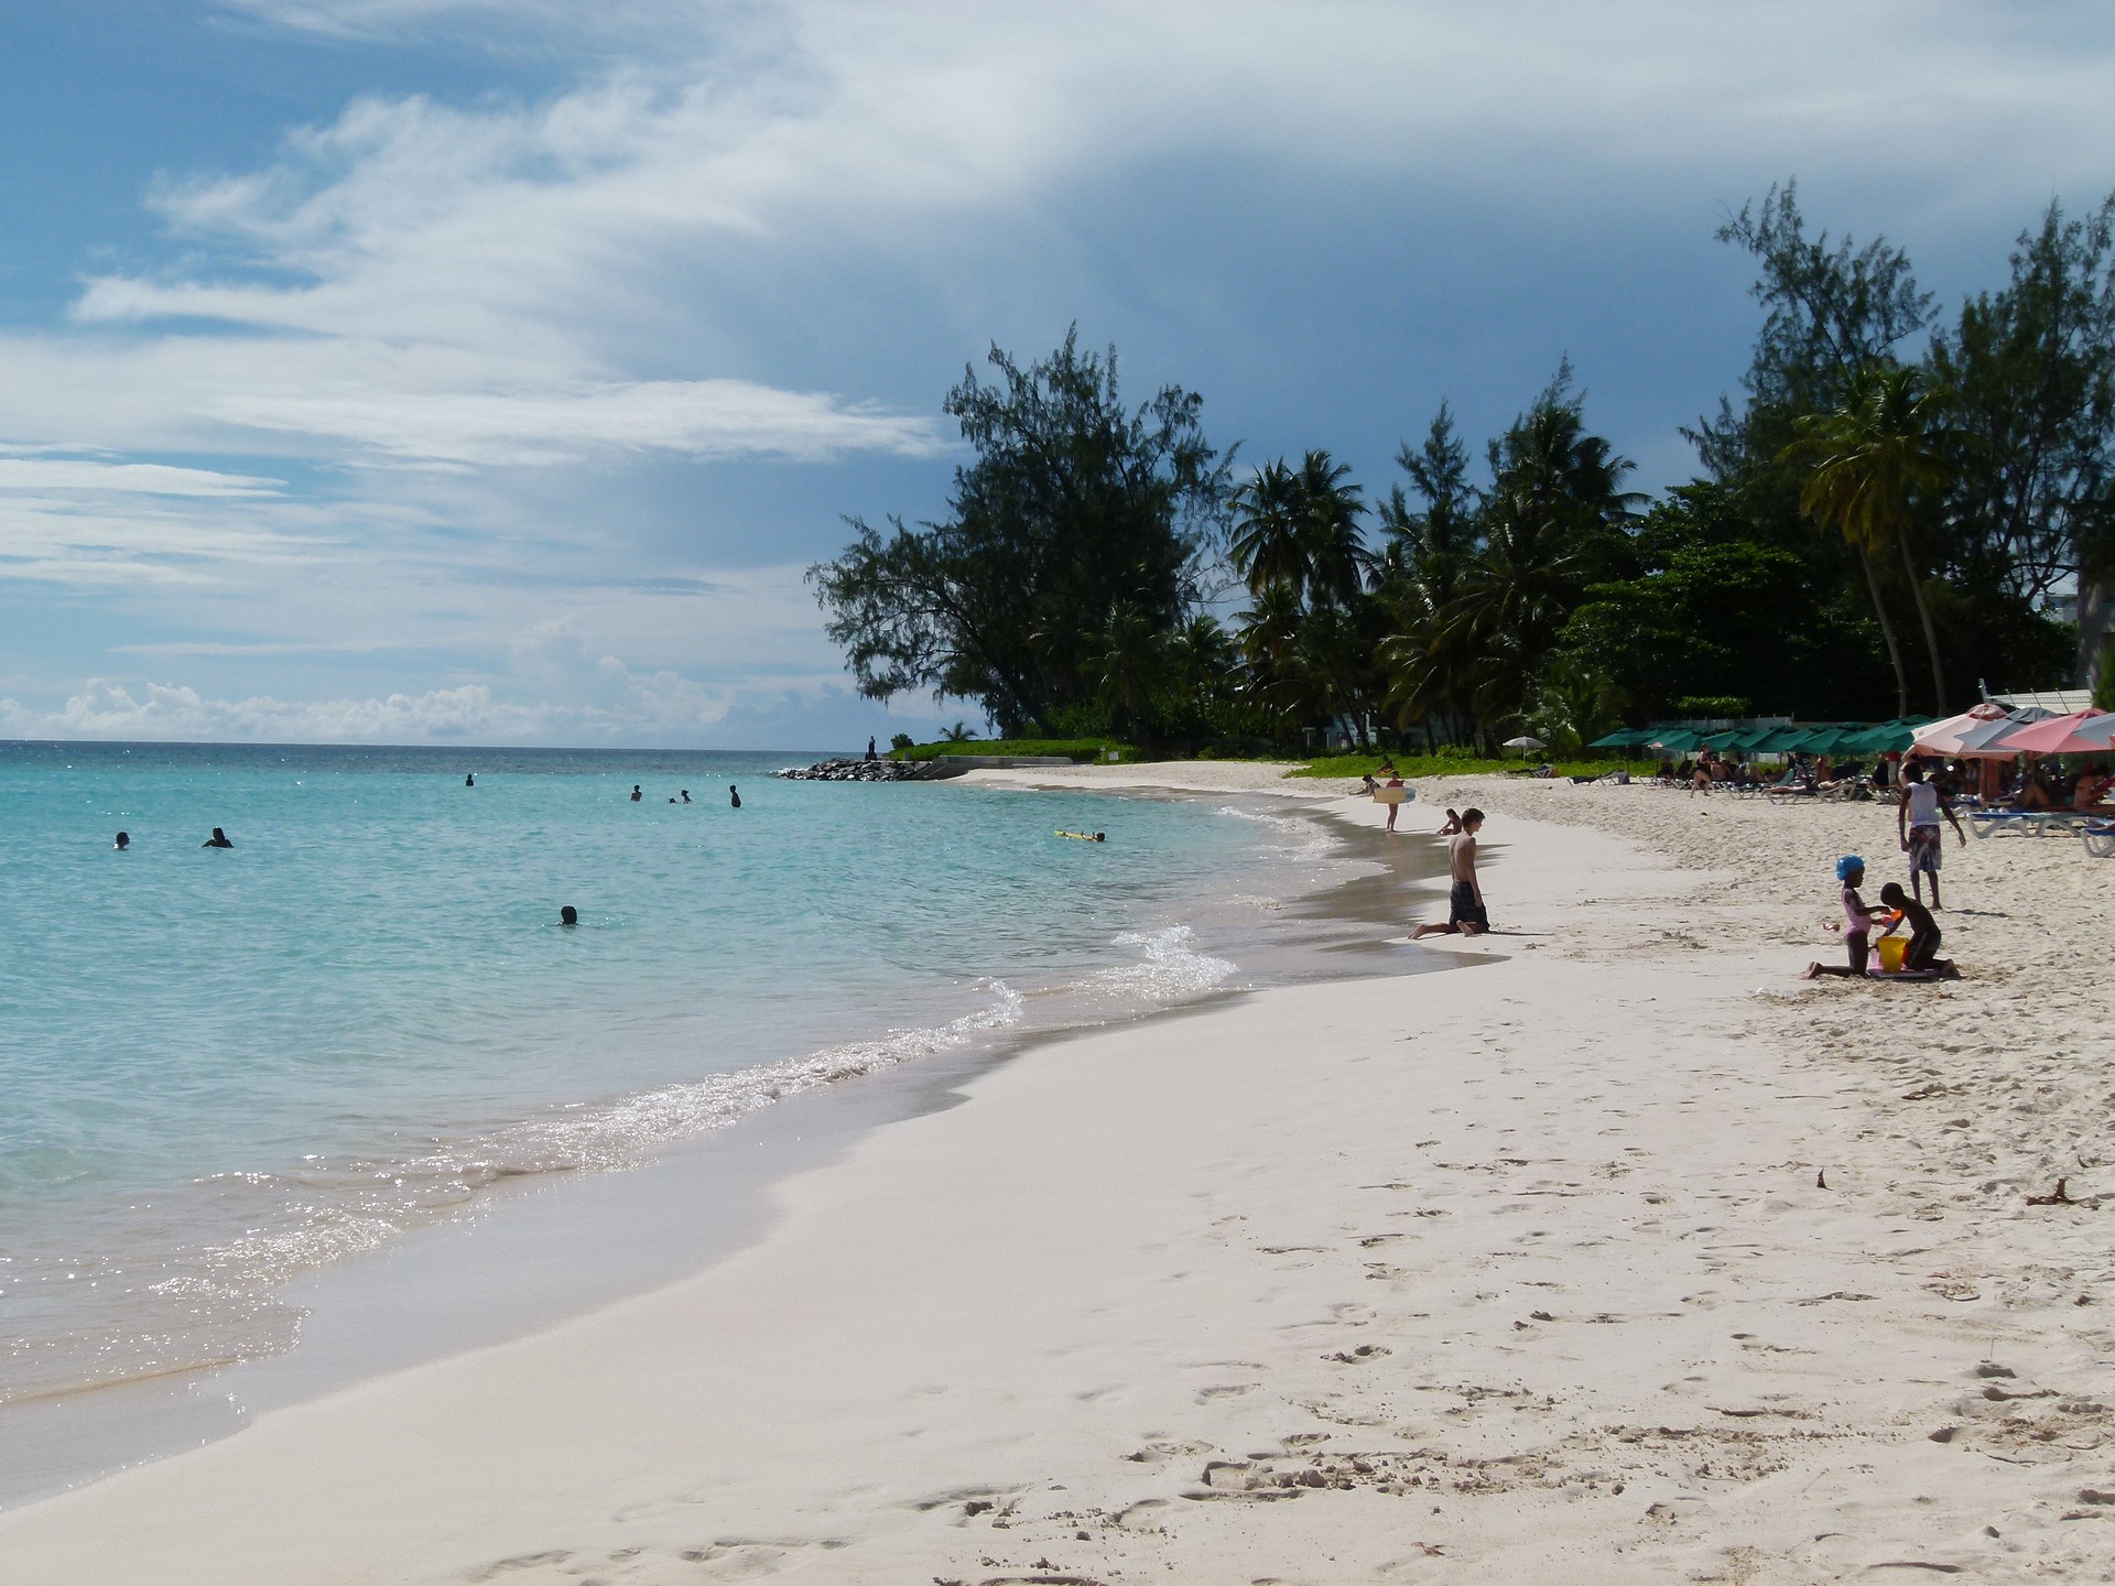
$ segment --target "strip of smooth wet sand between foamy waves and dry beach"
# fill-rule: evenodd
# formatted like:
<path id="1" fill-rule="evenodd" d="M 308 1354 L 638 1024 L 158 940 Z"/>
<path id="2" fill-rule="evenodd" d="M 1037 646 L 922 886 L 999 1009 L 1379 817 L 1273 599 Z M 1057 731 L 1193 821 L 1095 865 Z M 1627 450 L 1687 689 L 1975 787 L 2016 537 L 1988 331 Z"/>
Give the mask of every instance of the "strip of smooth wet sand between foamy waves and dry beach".
<path id="1" fill-rule="evenodd" d="M 1309 795 L 1303 804 L 1320 801 Z M 1318 829 L 1328 829 L 1328 852 L 1316 859 L 1337 873 L 1290 892 L 1280 918 L 1239 937 L 1244 985 L 1341 973 L 1322 956 L 1371 952 L 1371 933 L 1356 924 L 1351 930 L 1332 926 L 1371 916 L 1341 909 L 1335 899 L 1377 884 L 1383 895 L 1400 890 L 1404 875 L 1415 886 L 1415 875 L 1430 867 L 1375 865 L 1371 846 L 1362 850 L 1362 833 L 1303 810 L 1301 818 L 1309 816 Z M 1292 920 L 1301 924 L 1288 928 Z M 1239 990 L 1146 1002 L 1119 1013 L 1115 1023 L 1178 1015 L 1233 994 Z M 994 1028 L 958 1051 L 791 1091 L 719 1129 L 664 1142 L 626 1167 L 495 1184 L 459 1214 L 402 1231 L 376 1250 L 309 1269 L 281 1286 L 275 1301 L 302 1317 L 296 1343 L 286 1349 L 0 1406 L 6 1432 L 0 1512 L 235 1436 L 258 1415 L 370 1377 L 529 1336 L 679 1281 L 761 1237 L 770 1222 L 768 1195 L 787 1174 L 814 1167 L 869 1129 L 952 1106 L 964 1076 L 1108 1023 L 1108 1017 L 1089 1015 L 1060 1017 L 1055 1026 Z M 833 1142 L 825 1157 L 806 1142 L 816 1129 Z M 706 1229 L 677 1227 L 668 1218 L 668 1201 L 702 1203 L 700 1197 L 730 1197 L 740 1210 L 709 1205 Z M 641 1250 L 639 1229 L 654 1229 L 666 1248 Z M 546 1286 L 556 1296 L 529 1292 L 505 1269 L 510 1260 L 556 1277 Z"/>

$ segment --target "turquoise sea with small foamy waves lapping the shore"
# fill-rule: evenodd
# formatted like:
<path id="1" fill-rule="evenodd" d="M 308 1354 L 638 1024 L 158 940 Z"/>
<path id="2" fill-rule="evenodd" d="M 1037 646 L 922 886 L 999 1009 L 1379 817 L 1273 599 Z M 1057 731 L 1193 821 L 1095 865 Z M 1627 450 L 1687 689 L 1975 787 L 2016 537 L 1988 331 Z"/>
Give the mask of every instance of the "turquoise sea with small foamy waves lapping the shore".
<path id="1" fill-rule="evenodd" d="M 0 1402 L 283 1349 L 277 1284 L 508 1178 L 1233 983 L 1191 922 L 1318 854 L 802 759 L 0 744 Z"/>

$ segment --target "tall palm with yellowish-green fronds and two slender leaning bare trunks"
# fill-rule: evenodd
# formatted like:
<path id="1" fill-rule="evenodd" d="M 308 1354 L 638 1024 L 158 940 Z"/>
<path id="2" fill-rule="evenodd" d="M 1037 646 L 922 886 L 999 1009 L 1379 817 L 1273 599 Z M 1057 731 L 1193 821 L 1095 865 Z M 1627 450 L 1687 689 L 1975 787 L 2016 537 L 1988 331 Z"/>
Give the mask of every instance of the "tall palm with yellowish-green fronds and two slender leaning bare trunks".
<path id="1" fill-rule="evenodd" d="M 1842 406 L 1800 419 L 1798 440 L 1779 453 L 1779 461 L 1813 459 L 1815 472 L 1800 491 L 1800 512 L 1838 529 L 1857 546 L 1865 586 L 1880 613 L 1880 632 L 1887 634 L 1889 658 L 1895 662 L 1904 715 L 1910 711 L 1910 685 L 1904 679 L 1901 651 L 1889 628 L 1887 609 L 1880 605 L 1872 552 L 1889 541 L 1901 552 L 1901 571 L 1910 579 L 1910 598 L 1916 603 L 1916 620 L 1925 628 L 1925 649 L 1931 658 L 1931 694 L 1944 715 L 1946 668 L 1939 662 L 1939 634 L 1931 624 L 1925 582 L 1910 550 L 1912 499 L 1937 491 L 1950 478 L 1937 406 L 1914 368 L 1868 366 L 1851 376 Z"/>

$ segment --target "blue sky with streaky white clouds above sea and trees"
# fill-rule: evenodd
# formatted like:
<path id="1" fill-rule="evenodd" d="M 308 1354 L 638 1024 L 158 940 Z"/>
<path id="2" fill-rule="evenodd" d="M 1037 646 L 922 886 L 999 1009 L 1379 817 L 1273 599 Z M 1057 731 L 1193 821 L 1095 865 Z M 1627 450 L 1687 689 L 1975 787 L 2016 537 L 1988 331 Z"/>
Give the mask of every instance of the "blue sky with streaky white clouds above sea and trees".
<path id="1" fill-rule="evenodd" d="M 1942 302 L 2115 188 L 2100 4 L 0 8 L 0 738 L 844 749 L 804 584 L 1077 326 L 1368 495 L 1569 357 L 1660 491 L 1796 178 Z"/>

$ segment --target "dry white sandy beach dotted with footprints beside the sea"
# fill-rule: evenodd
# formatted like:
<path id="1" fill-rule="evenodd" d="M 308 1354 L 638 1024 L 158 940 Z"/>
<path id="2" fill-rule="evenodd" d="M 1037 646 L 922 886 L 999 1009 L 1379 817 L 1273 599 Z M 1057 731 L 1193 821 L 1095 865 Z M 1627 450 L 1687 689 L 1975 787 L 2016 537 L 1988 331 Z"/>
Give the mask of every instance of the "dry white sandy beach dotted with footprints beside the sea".
<path id="1" fill-rule="evenodd" d="M 1967 979 L 1815 988 L 1891 808 L 1442 801 L 1474 966 L 1036 1047 L 683 1284 L 0 1516 L 0 1578 L 2109 1578 L 2115 861 L 1948 842 Z"/>

